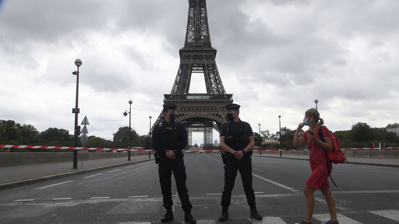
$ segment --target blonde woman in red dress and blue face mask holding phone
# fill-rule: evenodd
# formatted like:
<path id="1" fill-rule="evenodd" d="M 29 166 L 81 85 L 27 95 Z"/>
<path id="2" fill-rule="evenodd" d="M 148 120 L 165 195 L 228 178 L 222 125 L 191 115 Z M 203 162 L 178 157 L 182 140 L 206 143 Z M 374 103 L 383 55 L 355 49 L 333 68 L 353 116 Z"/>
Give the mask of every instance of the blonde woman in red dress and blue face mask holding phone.
<path id="1" fill-rule="evenodd" d="M 312 224 L 312 215 L 314 210 L 314 196 L 313 193 L 316 189 L 320 189 L 326 198 L 328 210 L 330 210 L 330 220 L 325 224 L 339 224 L 337 219 L 337 212 L 335 207 L 335 198 L 331 193 L 330 185 L 328 184 L 328 176 L 332 171 L 332 164 L 329 162 L 330 173 L 327 170 L 326 155 L 324 149 L 328 151 L 333 150 L 332 141 L 327 128 L 322 128 L 322 134 L 324 141 L 319 138 L 319 128 L 324 124 L 322 118 L 320 118 L 319 112 L 315 108 L 311 108 L 305 112 L 305 117 L 302 123 L 296 128 L 294 143 L 296 147 L 304 142 L 307 143 L 309 148 L 309 163 L 312 168 L 312 174 L 308 181 L 306 181 L 304 194 L 306 196 L 306 218 L 299 224 Z M 309 126 L 302 136 L 299 137 L 299 130 L 303 126 Z"/>

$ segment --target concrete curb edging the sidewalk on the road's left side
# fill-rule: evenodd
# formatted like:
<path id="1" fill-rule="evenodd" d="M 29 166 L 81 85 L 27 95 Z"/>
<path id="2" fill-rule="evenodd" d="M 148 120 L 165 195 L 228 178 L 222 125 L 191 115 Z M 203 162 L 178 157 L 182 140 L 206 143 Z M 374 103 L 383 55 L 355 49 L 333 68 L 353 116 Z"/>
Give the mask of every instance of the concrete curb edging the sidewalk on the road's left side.
<path id="1" fill-rule="evenodd" d="M 25 180 L 21 180 L 21 181 L 2 183 L 2 184 L 0 184 L 0 191 L 12 189 L 12 188 L 16 188 L 16 187 L 22 187 L 22 186 L 26 186 L 26 185 L 31 185 L 31 184 L 36 184 L 36 183 L 41 183 L 41 182 L 45 182 L 45 181 L 51 181 L 51 180 L 55 180 L 55 179 L 61 179 L 64 177 L 71 177 L 71 176 L 75 176 L 78 174 L 90 173 L 90 172 L 94 172 L 94 171 L 109 169 L 109 168 L 113 168 L 113 167 L 120 167 L 120 166 L 129 165 L 129 164 L 133 164 L 133 163 L 140 163 L 140 162 L 153 160 L 153 159 L 154 158 L 143 159 L 143 160 L 132 161 L 132 162 L 128 162 L 128 163 L 120 163 L 120 164 L 116 164 L 116 165 L 96 167 L 96 168 L 91 168 L 91 169 L 82 169 L 79 171 L 73 171 L 73 172 L 69 172 L 69 173 L 59 173 L 59 174 L 49 175 L 49 176 L 44 176 L 44 177 L 36 177 L 36 178 L 25 179 Z"/>

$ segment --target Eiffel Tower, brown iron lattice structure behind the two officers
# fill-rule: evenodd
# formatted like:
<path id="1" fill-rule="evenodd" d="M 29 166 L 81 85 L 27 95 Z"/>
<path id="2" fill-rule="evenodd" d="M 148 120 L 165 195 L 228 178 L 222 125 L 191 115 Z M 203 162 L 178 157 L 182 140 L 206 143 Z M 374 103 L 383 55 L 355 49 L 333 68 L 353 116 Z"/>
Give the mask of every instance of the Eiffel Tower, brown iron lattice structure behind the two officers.
<path id="1" fill-rule="evenodd" d="M 188 132 L 188 145 L 193 145 L 192 133 L 203 132 L 204 149 L 213 147 L 213 129 L 220 132 L 225 118 L 225 105 L 233 103 L 233 94 L 226 94 L 216 66 L 216 49 L 211 45 L 206 0 L 189 0 L 184 47 L 179 50 L 180 65 L 170 94 L 164 94 L 164 104 L 177 104 L 176 121 Z M 192 73 L 203 73 L 206 93 L 189 93 Z M 163 120 L 163 113 L 156 120 Z"/>

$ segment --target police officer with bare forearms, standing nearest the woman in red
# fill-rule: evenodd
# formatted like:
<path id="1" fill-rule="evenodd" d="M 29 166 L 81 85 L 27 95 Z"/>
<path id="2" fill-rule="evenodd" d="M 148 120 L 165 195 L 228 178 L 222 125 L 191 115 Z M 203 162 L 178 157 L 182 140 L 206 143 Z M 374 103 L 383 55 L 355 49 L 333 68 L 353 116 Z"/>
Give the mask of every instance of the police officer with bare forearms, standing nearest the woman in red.
<path id="1" fill-rule="evenodd" d="M 240 105 L 228 104 L 225 108 L 229 121 L 223 123 L 220 129 L 220 147 L 225 150 L 226 163 L 224 167 L 225 184 L 220 203 L 222 213 L 219 221 L 225 221 L 229 218 L 228 209 L 231 200 L 231 191 L 233 191 L 237 171 L 240 171 L 245 196 L 251 209 L 250 217 L 261 220 L 263 217 L 257 212 L 255 193 L 252 188 L 251 155 L 252 149 L 255 146 L 252 128 L 247 122 L 240 120 Z"/>

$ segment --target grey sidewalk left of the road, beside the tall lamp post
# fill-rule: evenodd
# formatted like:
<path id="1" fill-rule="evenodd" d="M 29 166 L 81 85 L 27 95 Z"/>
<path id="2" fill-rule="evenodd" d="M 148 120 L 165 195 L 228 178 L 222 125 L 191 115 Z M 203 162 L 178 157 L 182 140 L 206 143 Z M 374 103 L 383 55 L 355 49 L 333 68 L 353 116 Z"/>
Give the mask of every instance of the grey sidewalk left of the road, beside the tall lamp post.
<path id="1" fill-rule="evenodd" d="M 148 158 L 148 155 L 131 156 L 130 160 L 131 161 L 128 161 L 127 157 L 91 159 L 84 160 L 82 166 L 82 161 L 78 158 L 77 169 L 72 169 L 72 161 L 0 167 L 0 191 L 63 177 L 69 177 L 81 173 L 90 173 L 102 169 L 129 165 L 132 163 L 138 163 L 140 161 L 148 160 L 155 163 L 155 161 L 153 161 L 153 155 L 151 158 Z"/>

